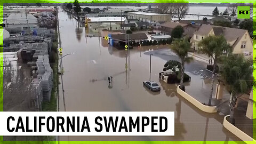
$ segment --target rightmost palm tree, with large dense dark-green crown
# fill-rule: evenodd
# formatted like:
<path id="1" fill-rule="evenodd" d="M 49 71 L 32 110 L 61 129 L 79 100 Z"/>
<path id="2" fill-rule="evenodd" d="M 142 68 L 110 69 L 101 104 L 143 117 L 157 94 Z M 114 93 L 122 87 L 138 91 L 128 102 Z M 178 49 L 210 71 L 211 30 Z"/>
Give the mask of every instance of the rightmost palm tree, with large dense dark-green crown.
<path id="1" fill-rule="evenodd" d="M 245 59 L 243 55 L 228 55 L 222 63 L 221 78 L 231 93 L 230 122 L 233 124 L 235 123 L 234 107 L 237 99 L 241 98 L 244 93 L 249 94 L 253 88 L 252 71 L 252 59 Z"/>

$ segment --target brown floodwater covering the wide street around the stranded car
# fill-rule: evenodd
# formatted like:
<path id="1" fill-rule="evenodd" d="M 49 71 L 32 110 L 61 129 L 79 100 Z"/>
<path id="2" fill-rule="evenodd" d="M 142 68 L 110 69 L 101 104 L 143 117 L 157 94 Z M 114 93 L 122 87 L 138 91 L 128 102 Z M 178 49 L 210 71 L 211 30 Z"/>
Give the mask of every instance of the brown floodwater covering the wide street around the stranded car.
<path id="1" fill-rule="evenodd" d="M 175 112 L 174 137 L 60 137 L 60 140 L 240 140 L 222 126 L 224 115 L 200 111 L 177 94 L 177 85 L 158 79 L 170 57 L 163 55 L 169 51 L 167 46 L 134 47 L 129 57 L 128 51 L 109 47 L 103 38 L 86 37 L 85 28 L 78 28 L 77 21 L 61 9 L 59 25 L 63 55 L 74 53 L 62 59 L 67 111 Z M 150 53 L 154 54 L 151 81 L 160 84 L 161 92 L 151 92 L 142 86 L 143 81 L 149 80 Z M 172 55 L 169 60 L 178 60 L 178 57 Z M 205 66 L 203 62 L 194 61 L 186 65 L 185 71 L 193 75 L 194 70 Z M 114 77 L 113 85 L 108 84 L 108 76 Z M 193 77 L 190 85 L 201 87 L 199 76 L 195 75 L 194 80 Z M 61 84 L 59 87 L 59 107 L 64 111 Z M 201 90 L 198 88 L 198 91 Z"/>

